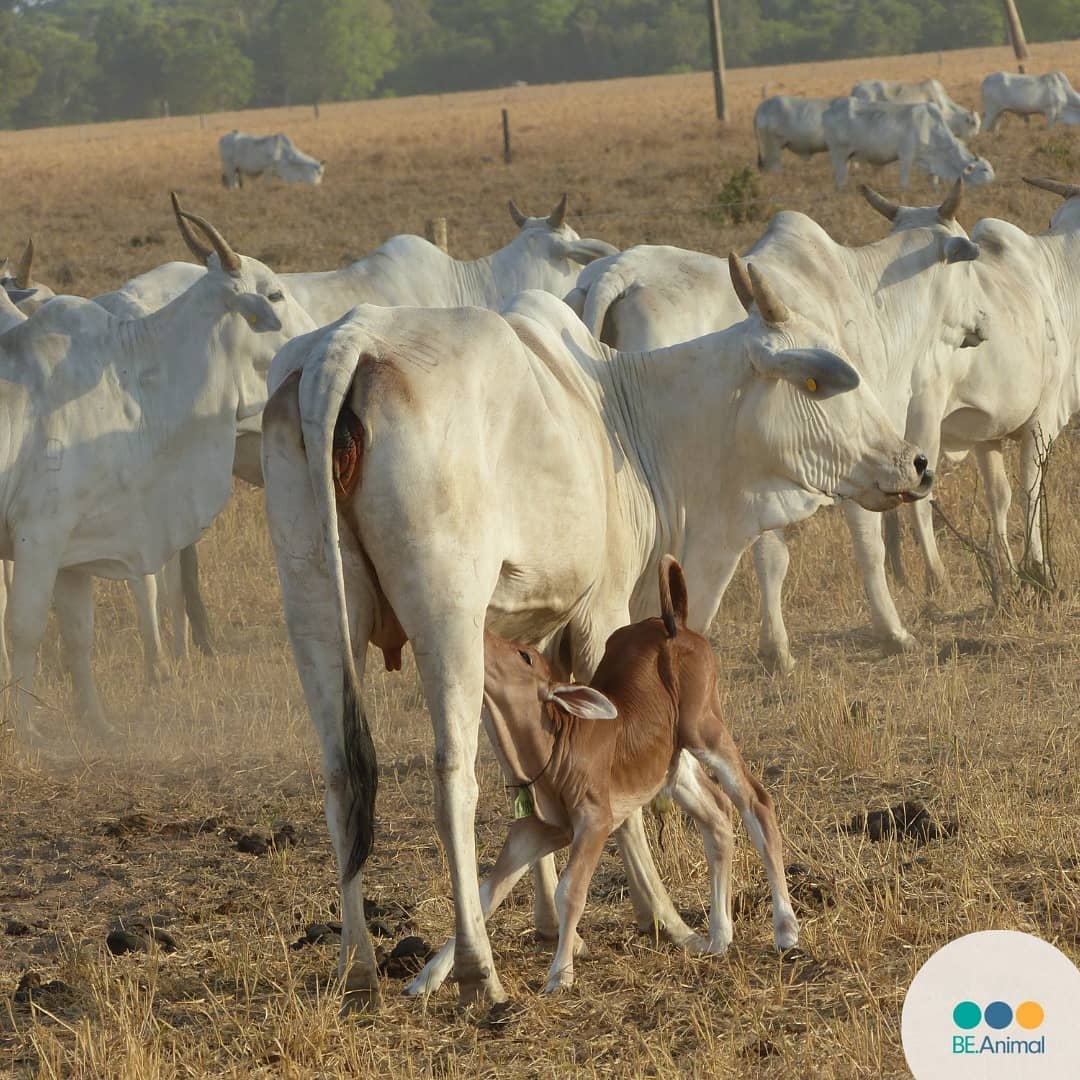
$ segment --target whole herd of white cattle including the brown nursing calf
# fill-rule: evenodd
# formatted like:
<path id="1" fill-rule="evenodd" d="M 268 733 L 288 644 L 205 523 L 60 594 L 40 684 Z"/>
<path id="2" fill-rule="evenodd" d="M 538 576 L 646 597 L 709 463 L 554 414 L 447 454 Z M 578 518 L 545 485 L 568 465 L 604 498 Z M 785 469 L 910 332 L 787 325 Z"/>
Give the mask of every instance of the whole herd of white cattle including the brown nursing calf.
<path id="1" fill-rule="evenodd" d="M 1080 122 L 1064 76 L 988 77 L 987 123 L 1005 108 Z M 772 98 L 756 126 L 765 167 L 784 146 L 827 148 L 839 183 L 848 158 L 895 151 L 905 180 L 915 162 L 954 185 L 929 207 L 864 186 L 889 231 L 856 247 L 783 212 L 743 256 L 620 252 L 579 237 L 564 195 L 546 217 L 511 202 L 517 235 L 473 261 L 397 235 L 345 269 L 285 274 L 238 254 L 174 194 L 194 262 L 94 299 L 38 282 L 32 245 L 12 272 L 0 267 L 0 665 L 15 738 L 44 739 L 32 686 L 50 606 L 75 710 L 87 730 L 108 733 L 90 660 L 93 578 L 132 582 L 152 678 L 157 576 L 183 648 L 186 615 L 201 612 L 192 545 L 233 475 L 265 484 L 285 621 L 322 744 L 350 1007 L 379 996 L 362 887 L 378 781 L 368 645 L 388 670 L 413 646 L 456 902 L 453 941 L 408 990 L 433 993 L 453 967 L 463 1000 L 500 1001 L 488 915 L 531 867 L 537 931 L 558 939 L 546 988 L 569 985 L 589 877 L 612 832 L 638 923 L 719 954 L 731 941 L 738 810 L 769 875 L 775 945 L 797 941 L 771 799 L 724 726 L 701 637 L 747 548 L 770 666 L 795 662 L 783 530 L 834 502 L 877 637 L 909 649 L 886 579 L 882 515 L 907 507 L 939 583 L 927 497 L 943 459 L 972 453 L 996 557 L 1015 566 L 1003 445 L 1016 441 L 1025 557 L 1041 565 L 1039 446 L 1080 411 L 1080 186 L 1028 181 L 1064 200 L 1044 233 L 997 219 L 967 233 L 963 183 L 993 170 L 960 141 L 977 116 L 934 81 Z M 881 139 L 894 127 L 890 150 Z M 861 129 L 873 146 L 855 139 Z M 231 133 L 221 159 L 230 186 L 264 171 L 322 177 L 285 136 Z M 208 648 L 204 612 L 194 631 Z M 519 811 L 483 885 L 482 717 Z M 664 793 L 705 843 L 706 934 L 676 913 L 649 851 L 642 807 Z M 565 846 L 556 886 L 552 852 Z"/>

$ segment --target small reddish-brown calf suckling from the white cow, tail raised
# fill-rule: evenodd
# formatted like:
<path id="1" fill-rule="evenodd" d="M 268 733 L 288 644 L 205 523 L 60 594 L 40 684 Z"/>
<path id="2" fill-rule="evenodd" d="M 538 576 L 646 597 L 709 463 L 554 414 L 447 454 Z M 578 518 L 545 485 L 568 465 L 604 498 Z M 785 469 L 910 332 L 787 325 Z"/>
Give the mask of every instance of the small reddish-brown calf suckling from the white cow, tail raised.
<path id="1" fill-rule="evenodd" d="M 608 836 L 660 793 L 697 822 L 708 860 L 708 936 L 691 940 L 691 949 L 720 954 L 731 943 L 728 796 L 765 863 L 777 948 L 798 941 L 772 799 L 750 774 L 720 715 L 716 660 L 708 642 L 687 629 L 686 579 L 671 555 L 660 563 L 660 618 L 608 638 L 590 686 L 558 683 L 536 649 L 484 635 L 484 724 L 503 772 L 531 794 L 531 812 L 511 824 L 481 886 L 485 919 L 537 859 L 570 845 L 555 893 L 558 946 L 544 993 L 573 983 L 578 920 Z M 679 768 L 684 751 L 718 779 L 723 793 L 702 784 L 697 770 Z M 409 993 L 434 990 L 453 962 L 450 939 Z"/>

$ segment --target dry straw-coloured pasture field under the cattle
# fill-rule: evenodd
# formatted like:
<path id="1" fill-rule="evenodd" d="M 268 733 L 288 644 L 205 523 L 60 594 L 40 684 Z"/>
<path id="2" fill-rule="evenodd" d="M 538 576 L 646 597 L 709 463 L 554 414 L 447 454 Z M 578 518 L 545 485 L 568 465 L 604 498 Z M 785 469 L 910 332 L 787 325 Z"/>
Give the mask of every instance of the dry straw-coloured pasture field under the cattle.
<path id="1" fill-rule="evenodd" d="M 1062 67 L 1080 83 L 1080 44 L 1034 53 L 1030 70 Z M 754 164 L 751 117 L 762 89 L 826 94 L 867 76 L 937 76 L 977 107 L 982 77 L 1011 66 L 1001 49 L 733 71 L 734 117 L 723 133 L 702 75 L 330 106 L 318 120 L 282 109 L 207 117 L 205 127 L 174 118 L 0 133 L 0 252 L 16 254 L 32 231 L 41 280 L 85 295 L 113 288 L 185 257 L 170 188 L 238 249 L 280 270 L 338 266 L 435 215 L 449 220 L 451 252 L 476 256 L 510 240 L 508 197 L 536 214 L 564 190 L 572 224 L 620 246 L 725 254 L 784 207 L 864 242 L 886 225 L 853 190 L 833 192 L 824 157 L 788 159 L 780 176 L 755 178 L 756 217 L 734 222 L 716 208 L 729 177 Z M 216 140 L 237 125 L 288 131 L 327 160 L 322 187 L 222 190 Z M 1017 178 L 1080 178 L 1080 130 L 1007 118 L 973 146 L 1001 183 L 968 193 L 969 226 L 994 215 L 1038 231 L 1057 200 Z M 894 167 L 862 175 L 895 193 Z M 940 195 L 919 176 L 908 201 Z M 908 543 L 910 584 L 895 591 L 920 640 L 908 656 L 882 657 L 869 639 L 836 513 L 795 530 L 786 615 L 799 665 L 788 678 L 757 662 L 756 585 L 743 569 L 713 640 L 729 723 L 778 801 L 786 862 L 800 864 L 791 877 L 800 951 L 784 960 L 772 951 L 765 877 L 744 834 L 737 936 L 724 958 L 639 935 L 609 850 L 582 923 L 592 956 L 564 996 L 539 996 L 548 957 L 534 951 L 529 885 L 492 919 L 514 1001 L 500 1023 L 459 1012 L 450 987 L 427 1004 L 406 1000 L 392 973 L 379 1015 L 341 1021 L 336 946 L 296 945 L 307 927 L 335 918 L 335 872 L 261 496 L 238 484 L 201 546 L 216 657 L 193 657 L 145 688 L 130 596 L 103 583 L 95 669 L 125 738 L 103 747 L 72 730 L 53 635 L 39 692 L 54 742 L 28 754 L 8 741 L 0 752 L 0 1074 L 906 1076 L 901 1003 L 937 947 L 1013 928 L 1080 959 L 1078 469 L 1080 447 L 1066 435 L 1050 480 L 1061 591 L 1047 605 L 1020 596 L 995 615 L 973 557 L 946 536 L 950 589 L 930 596 Z M 943 476 L 939 498 L 982 537 L 974 475 L 964 465 Z M 408 658 L 403 673 L 380 667 L 369 665 L 365 690 L 382 770 L 366 883 L 389 953 L 406 935 L 441 943 L 451 904 L 415 669 Z M 486 747 L 480 772 L 488 866 L 509 800 Z M 874 842 L 837 828 L 904 799 L 922 801 L 941 833 Z M 677 906 L 701 920 L 696 833 L 677 816 L 662 842 L 649 827 Z M 279 842 L 262 854 L 238 850 L 252 833 Z M 107 933 L 139 920 L 163 928 L 175 950 L 163 940 L 111 956 Z"/>

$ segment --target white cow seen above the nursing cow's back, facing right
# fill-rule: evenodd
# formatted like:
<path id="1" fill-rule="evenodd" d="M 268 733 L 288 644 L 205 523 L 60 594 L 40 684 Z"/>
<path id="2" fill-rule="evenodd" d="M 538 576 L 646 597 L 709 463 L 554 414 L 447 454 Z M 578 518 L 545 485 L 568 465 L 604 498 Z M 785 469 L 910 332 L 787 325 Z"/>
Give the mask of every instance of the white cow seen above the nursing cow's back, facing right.
<path id="1" fill-rule="evenodd" d="M 450 258 L 421 237 L 399 235 L 343 270 L 291 273 L 283 280 L 320 325 L 357 303 L 494 311 L 528 288 L 563 296 L 582 265 L 618 252 L 603 240 L 582 240 L 566 224 L 565 194 L 546 217 L 527 217 L 513 200 L 510 214 L 517 235 L 478 259 Z"/>

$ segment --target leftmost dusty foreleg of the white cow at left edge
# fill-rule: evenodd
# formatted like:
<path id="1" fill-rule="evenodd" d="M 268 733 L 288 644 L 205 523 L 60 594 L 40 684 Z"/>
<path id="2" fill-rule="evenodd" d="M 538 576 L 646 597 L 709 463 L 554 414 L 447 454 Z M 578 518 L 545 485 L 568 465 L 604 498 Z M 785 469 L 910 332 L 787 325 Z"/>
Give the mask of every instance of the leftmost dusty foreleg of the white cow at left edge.
<path id="1" fill-rule="evenodd" d="M 33 723 L 33 677 L 38 646 L 49 623 L 57 566 L 55 554 L 29 537 L 17 538 L 16 551 L 8 606 L 13 685 L 5 698 L 5 711 L 14 720 L 16 738 L 35 741 L 42 735 Z"/>

